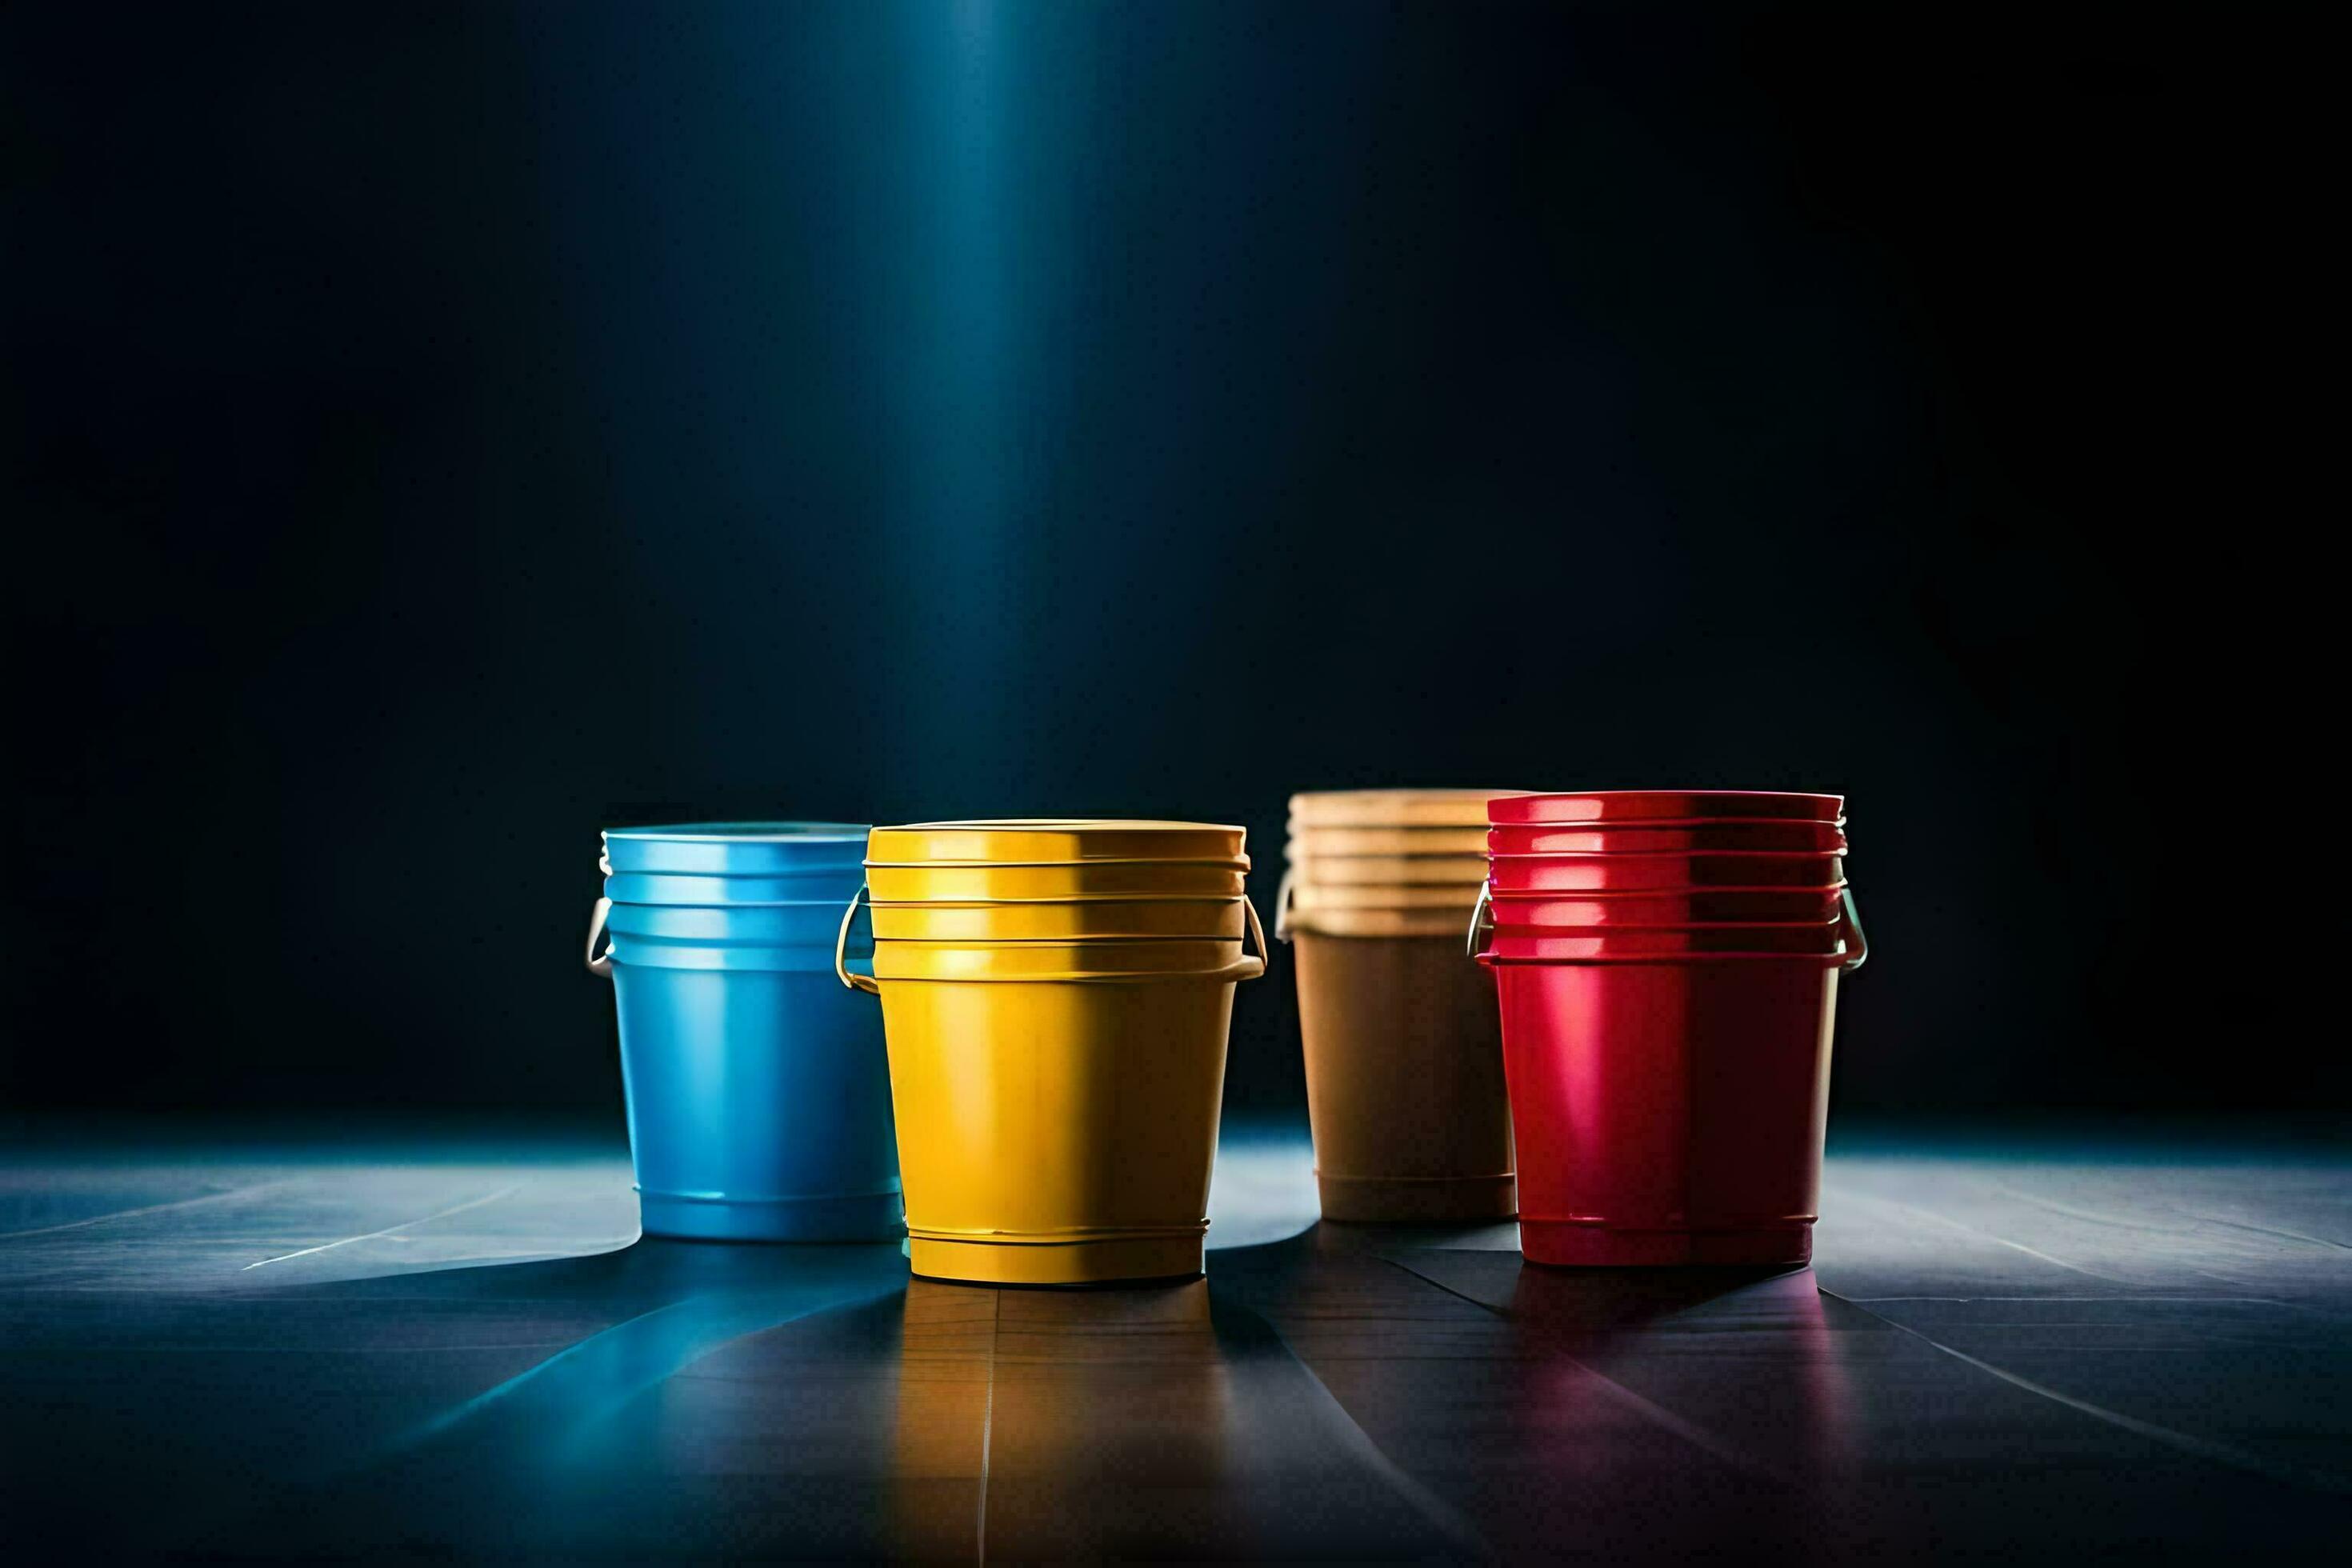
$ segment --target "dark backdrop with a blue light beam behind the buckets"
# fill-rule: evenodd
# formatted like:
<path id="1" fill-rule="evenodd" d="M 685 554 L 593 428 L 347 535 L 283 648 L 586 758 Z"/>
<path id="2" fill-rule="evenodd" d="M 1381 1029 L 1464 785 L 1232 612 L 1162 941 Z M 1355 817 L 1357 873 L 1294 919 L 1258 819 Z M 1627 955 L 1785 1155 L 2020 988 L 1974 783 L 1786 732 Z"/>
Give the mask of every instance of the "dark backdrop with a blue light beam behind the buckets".
<path id="1" fill-rule="evenodd" d="M 607 823 L 1501 783 L 1849 792 L 1844 1107 L 2324 1105 L 2328 181 L 2206 26 L 9 7 L 0 1088 L 612 1105 Z"/>

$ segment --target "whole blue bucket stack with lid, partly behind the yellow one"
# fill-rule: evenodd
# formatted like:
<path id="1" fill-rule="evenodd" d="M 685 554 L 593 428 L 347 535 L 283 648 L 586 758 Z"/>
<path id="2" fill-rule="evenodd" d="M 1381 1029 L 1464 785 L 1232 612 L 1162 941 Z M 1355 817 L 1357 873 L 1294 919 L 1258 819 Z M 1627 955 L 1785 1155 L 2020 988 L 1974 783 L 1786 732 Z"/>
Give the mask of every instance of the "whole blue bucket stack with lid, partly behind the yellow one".
<path id="1" fill-rule="evenodd" d="M 612 877 L 588 969 L 612 976 L 621 1018 L 644 1234 L 903 1234 L 882 1020 L 833 976 L 863 846 L 866 830 L 840 823 L 604 835 Z M 807 896 L 717 896 L 771 882 Z M 612 947 L 597 952 L 607 936 Z"/>

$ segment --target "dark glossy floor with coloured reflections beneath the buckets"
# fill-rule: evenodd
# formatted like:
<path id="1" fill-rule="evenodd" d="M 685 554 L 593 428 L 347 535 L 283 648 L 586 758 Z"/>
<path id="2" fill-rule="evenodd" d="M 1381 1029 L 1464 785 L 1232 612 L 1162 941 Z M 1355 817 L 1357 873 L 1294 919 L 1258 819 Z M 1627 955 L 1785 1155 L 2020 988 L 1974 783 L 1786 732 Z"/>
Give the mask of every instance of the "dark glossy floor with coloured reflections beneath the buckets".
<path id="1" fill-rule="evenodd" d="M 0 1152 L 0 1561 L 2223 1561 L 2352 1533 L 2352 1164 L 1832 1145 L 1813 1269 L 1312 1225 L 1207 1281 L 635 1241 L 612 1147 Z"/>

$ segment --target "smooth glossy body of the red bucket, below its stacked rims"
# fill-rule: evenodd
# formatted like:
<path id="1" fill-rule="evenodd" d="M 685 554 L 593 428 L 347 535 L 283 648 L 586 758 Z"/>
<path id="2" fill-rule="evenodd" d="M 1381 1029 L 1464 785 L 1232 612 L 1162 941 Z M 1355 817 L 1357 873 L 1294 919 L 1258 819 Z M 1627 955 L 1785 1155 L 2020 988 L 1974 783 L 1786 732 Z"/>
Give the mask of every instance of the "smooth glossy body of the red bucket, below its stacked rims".
<path id="1" fill-rule="evenodd" d="M 1501 964 L 1494 976 L 1531 1262 L 1811 1258 L 1835 966 Z"/>

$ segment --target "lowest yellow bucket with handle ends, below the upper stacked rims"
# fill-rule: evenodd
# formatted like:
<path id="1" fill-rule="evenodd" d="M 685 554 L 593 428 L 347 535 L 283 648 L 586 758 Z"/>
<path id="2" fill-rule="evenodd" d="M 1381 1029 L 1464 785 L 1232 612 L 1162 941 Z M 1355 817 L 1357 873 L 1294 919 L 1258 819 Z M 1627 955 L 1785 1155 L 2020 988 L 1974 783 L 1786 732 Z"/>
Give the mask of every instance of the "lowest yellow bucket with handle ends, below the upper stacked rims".
<path id="1" fill-rule="evenodd" d="M 908 1260 L 927 1279 L 1077 1286 L 1202 1272 L 1232 987 L 1223 940 L 875 943 Z"/>

